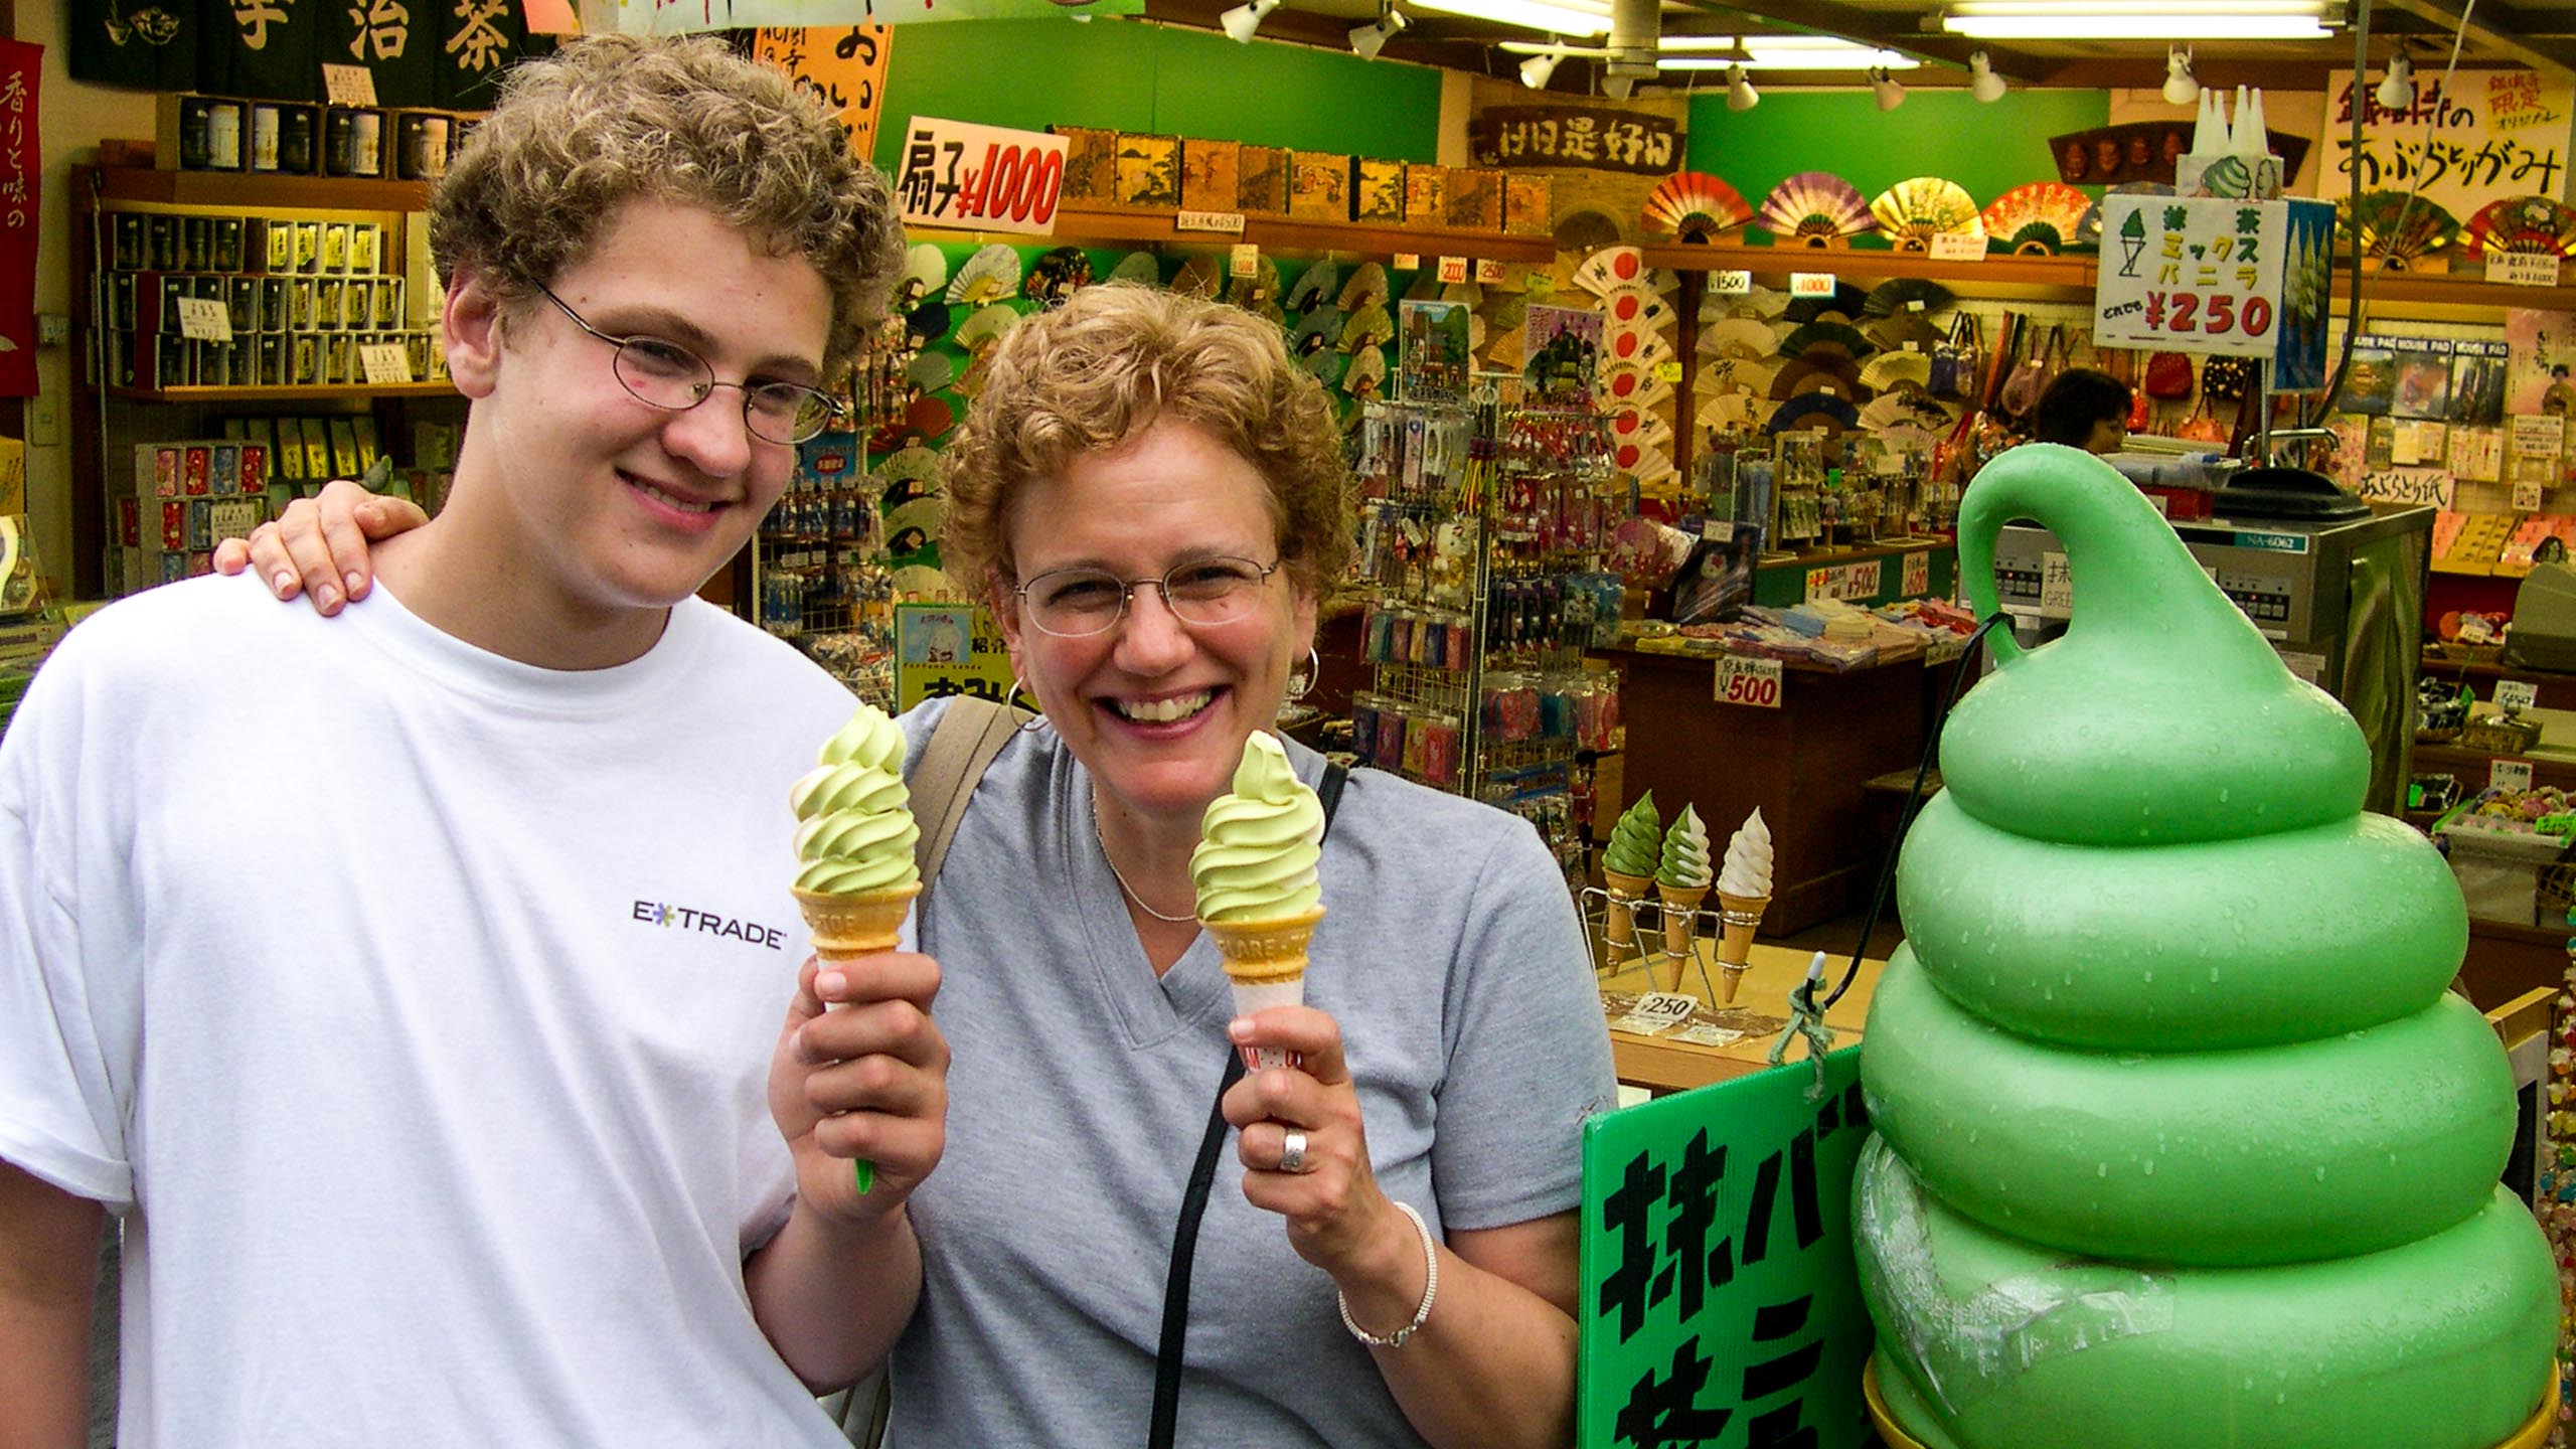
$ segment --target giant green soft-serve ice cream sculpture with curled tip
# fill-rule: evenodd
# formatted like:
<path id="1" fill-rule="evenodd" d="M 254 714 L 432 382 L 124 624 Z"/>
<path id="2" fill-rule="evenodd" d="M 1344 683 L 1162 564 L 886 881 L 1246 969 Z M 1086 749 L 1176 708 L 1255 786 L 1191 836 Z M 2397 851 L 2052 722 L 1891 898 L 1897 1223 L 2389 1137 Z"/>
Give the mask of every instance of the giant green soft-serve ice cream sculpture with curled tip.
<path id="1" fill-rule="evenodd" d="M 2512 1075 L 2445 993 L 2434 848 L 2107 464 L 2012 449 L 1960 503 L 2056 531 L 2063 639 L 1942 730 L 1870 1003 L 1855 1183 L 1875 1374 L 1935 1449 L 2491 1449 L 2555 1274 L 2496 1176 Z"/>

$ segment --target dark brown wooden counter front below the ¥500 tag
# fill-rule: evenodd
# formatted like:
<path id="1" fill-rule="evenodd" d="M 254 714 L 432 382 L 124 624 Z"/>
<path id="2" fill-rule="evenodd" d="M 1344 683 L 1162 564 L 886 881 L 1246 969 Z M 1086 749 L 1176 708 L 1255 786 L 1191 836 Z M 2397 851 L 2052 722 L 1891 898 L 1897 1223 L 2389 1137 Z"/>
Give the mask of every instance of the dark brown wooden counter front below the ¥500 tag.
<path id="1" fill-rule="evenodd" d="M 1922 758 L 1947 665 L 1924 670 L 1922 655 L 1842 673 L 1790 663 L 1780 668 L 1780 704 L 1759 709 L 1718 704 L 1718 663 L 1708 655 L 1595 657 L 1625 673 L 1628 724 L 1620 799 L 1600 799 L 1595 820 L 1615 820 L 1651 789 L 1664 820 L 1698 804 L 1718 843 L 1759 807 L 1772 833 L 1765 936 L 1868 905 L 1888 843 L 1868 781 Z"/>

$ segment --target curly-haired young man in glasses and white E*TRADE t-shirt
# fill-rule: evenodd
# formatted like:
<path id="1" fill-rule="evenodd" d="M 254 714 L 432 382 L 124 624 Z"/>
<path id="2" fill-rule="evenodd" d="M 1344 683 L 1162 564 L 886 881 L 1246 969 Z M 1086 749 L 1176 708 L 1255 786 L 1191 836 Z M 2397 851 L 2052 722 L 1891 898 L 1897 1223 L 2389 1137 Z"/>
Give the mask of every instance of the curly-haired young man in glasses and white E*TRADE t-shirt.
<path id="1" fill-rule="evenodd" d="M 912 1312 L 938 967 L 799 982 L 850 696 L 690 598 L 829 418 L 884 183 L 714 41 L 592 39 L 430 240 L 471 413 L 381 588 L 118 603 L 0 745 L 5 1446 L 80 1441 L 100 1207 L 126 1449 L 842 1444 L 811 1392 Z"/>

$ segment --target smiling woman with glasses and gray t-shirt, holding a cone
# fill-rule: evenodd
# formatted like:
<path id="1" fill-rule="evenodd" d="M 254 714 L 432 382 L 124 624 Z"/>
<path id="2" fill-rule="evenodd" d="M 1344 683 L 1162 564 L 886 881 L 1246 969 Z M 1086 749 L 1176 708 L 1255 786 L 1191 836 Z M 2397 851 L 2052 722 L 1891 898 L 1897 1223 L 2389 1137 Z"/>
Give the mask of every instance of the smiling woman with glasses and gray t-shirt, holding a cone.
<path id="1" fill-rule="evenodd" d="M 948 570 L 1046 717 L 994 758 L 917 918 L 951 1122 L 912 1196 L 891 1441 L 1139 1444 L 1218 1073 L 1285 1047 L 1301 1067 L 1221 1098 L 1236 1191 L 1198 1240 L 1177 1441 L 1569 1444 L 1577 1127 L 1613 1078 L 1548 851 L 1360 771 L 1309 1006 L 1236 1021 L 1193 918 L 1200 812 L 1311 663 L 1350 549 L 1321 389 L 1247 312 L 1084 289 L 1002 340 L 943 474 Z M 309 511 L 296 549 L 322 580 L 363 567 Z M 260 565 L 304 567 L 273 539 Z M 940 714 L 904 717 L 914 761 Z"/>

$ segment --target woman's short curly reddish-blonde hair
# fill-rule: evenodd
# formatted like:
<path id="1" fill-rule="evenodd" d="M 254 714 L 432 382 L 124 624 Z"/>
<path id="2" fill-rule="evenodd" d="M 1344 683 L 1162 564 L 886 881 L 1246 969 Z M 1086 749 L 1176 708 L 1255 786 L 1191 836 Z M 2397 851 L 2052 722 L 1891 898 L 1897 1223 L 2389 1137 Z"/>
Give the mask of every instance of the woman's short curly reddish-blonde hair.
<path id="1" fill-rule="evenodd" d="M 1115 449 L 1162 418 L 1206 428 L 1270 485 L 1280 562 L 1324 601 L 1350 562 L 1350 469 L 1324 387 L 1280 330 L 1224 302 L 1084 286 L 1002 335 L 940 454 L 940 562 L 969 596 L 1018 583 L 1010 500 L 1033 477 Z"/>

